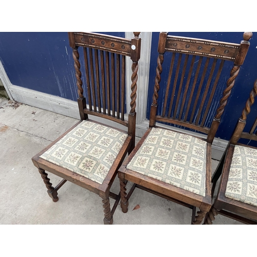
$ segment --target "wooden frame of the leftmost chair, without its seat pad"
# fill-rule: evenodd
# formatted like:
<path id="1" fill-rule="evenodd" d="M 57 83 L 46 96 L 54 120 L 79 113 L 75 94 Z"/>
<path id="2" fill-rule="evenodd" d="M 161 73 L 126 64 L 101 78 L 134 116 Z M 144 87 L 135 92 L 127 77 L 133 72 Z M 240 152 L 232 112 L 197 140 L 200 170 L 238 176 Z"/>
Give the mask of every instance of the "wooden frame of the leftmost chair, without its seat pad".
<path id="1" fill-rule="evenodd" d="M 78 87 L 78 105 L 79 105 L 79 113 L 81 121 L 72 126 L 67 132 L 65 132 L 62 136 L 60 136 L 57 140 L 52 142 L 47 146 L 43 151 L 39 154 L 35 155 L 32 158 L 32 161 L 36 168 L 39 169 L 39 172 L 44 180 L 44 183 L 47 188 L 47 192 L 49 196 L 52 198 L 54 202 L 58 201 L 58 190 L 64 185 L 64 183 L 68 180 L 76 185 L 83 187 L 91 192 L 98 194 L 102 198 L 103 208 L 104 208 L 104 224 L 113 224 L 113 214 L 118 205 L 120 194 L 114 194 L 110 192 L 110 188 L 112 183 L 116 177 L 118 168 L 120 167 L 123 159 L 125 158 L 127 153 L 130 153 L 135 147 L 135 128 L 136 128 L 136 90 L 137 90 L 137 71 L 138 71 L 138 60 L 140 59 L 140 47 L 141 47 L 141 39 L 139 38 L 140 32 L 134 32 L 134 38 L 132 40 L 118 38 L 116 36 L 109 36 L 98 33 L 89 33 L 89 32 L 68 32 L 69 44 L 73 49 L 73 58 L 74 58 L 74 66 L 76 70 L 76 78 L 77 78 L 77 87 Z M 83 95 L 83 87 L 82 87 L 82 79 L 81 79 L 81 71 L 80 71 L 80 62 L 79 62 L 79 51 L 78 48 L 83 47 L 84 49 L 84 57 L 85 57 L 85 68 L 86 68 L 86 80 L 87 80 L 87 89 L 88 89 L 88 104 L 86 103 L 86 98 Z M 88 48 L 89 50 L 87 51 Z M 96 85 L 94 85 L 94 79 L 89 81 L 89 77 L 94 78 L 93 73 L 93 54 L 94 51 L 95 56 L 95 78 L 97 80 Z M 111 53 L 108 53 L 111 52 Z M 103 55 L 105 54 L 106 63 L 104 65 Z M 122 74 L 121 74 L 121 94 L 117 91 L 118 98 L 121 99 L 121 106 L 119 106 L 120 101 L 116 101 L 115 99 L 115 88 L 114 81 L 116 79 L 116 83 L 119 81 L 118 68 L 116 70 L 116 74 L 114 71 L 114 58 L 116 54 L 116 67 L 120 67 L 120 58 L 122 59 Z M 111 60 L 109 60 L 109 56 L 111 55 Z M 100 56 L 100 57 L 99 57 Z M 120 57 L 121 56 L 121 57 Z M 125 56 L 128 56 L 133 61 L 132 63 L 132 84 L 131 84 L 131 110 L 128 113 L 128 120 L 124 119 L 124 91 L 125 91 Z M 100 60 L 100 63 L 98 61 Z M 109 61 L 113 64 L 112 67 L 109 67 Z M 88 71 L 88 66 L 91 67 L 90 75 Z M 109 69 L 111 71 L 109 72 Z M 104 70 L 107 70 L 104 78 Z M 110 75 L 111 74 L 111 75 Z M 102 81 L 106 81 L 107 85 L 107 93 L 105 92 L 104 86 L 102 87 L 102 95 L 103 99 L 105 99 L 105 93 L 107 97 L 107 106 L 105 106 L 106 101 L 100 99 L 100 83 L 99 78 L 102 75 Z M 112 87 L 112 89 L 110 89 Z M 95 88 L 97 88 L 95 90 Z M 119 88 L 119 87 L 118 87 Z M 110 96 L 112 90 L 112 96 Z M 117 89 L 118 90 L 118 89 Z M 92 97 L 91 97 L 92 96 Z M 110 99 L 112 98 L 112 105 Z M 117 104 L 115 106 L 115 104 Z M 116 112 L 115 112 L 116 107 Z M 59 167 L 57 164 L 51 163 L 45 159 L 40 158 L 40 156 L 46 152 L 53 144 L 58 142 L 61 138 L 63 138 L 69 131 L 75 128 L 78 124 L 80 124 L 83 120 L 89 120 L 88 115 L 94 115 L 101 118 L 106 118 L 111 121 L 115 121 L 119 124 L 122 124 L 127 127 L 127 131 L 122 131 L 126 133 L 128 136 L 124 141 L 122 148 L 116 157 L 111 169 L 109 170 L 107 176 L 105 177 L 103 183 L 100 185 L 99 183 L 92 181 L 84 176 L 76 174 L 70 170 Z M 90 120 L 89 120 L 90 121 Z M 95 123 L 99 123 L 94 121 Z M 99 123 L 102 124 L 102 123 Z M 104 124 L 103 124 L 104 125 Z M 111 127 L 111 126 L 109 126 Z M 118 130 L 115 127 L 116 130 Z M 48 174 L 45 171 L 49 171 L 57 176 L 63 178 L 63 180 L 56 186 L 52 187 L 52 183 L 48 178 Z M 111 210 L 109 204 L 109 197 L 114 198 L 115 204 Z"/>

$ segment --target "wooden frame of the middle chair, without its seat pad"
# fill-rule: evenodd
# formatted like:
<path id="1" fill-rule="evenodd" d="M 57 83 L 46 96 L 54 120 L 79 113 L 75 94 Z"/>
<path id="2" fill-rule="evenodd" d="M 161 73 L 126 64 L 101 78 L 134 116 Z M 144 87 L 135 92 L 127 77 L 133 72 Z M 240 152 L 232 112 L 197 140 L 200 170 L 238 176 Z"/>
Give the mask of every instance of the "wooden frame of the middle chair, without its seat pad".
<path id="1" fill-rule="evenodd" d="M 169 200 L 174 201 L 175 203 L 181 204 L 183 206 L 189 207 L 192 209 L 192 222 L 191 224 L 200 224 L 206 213 L 211 208 L 211 144 L 214 139 L 215 133 L 217 131 L 219 122 L 221 121 L 221 116 L 224 112 L 224 108 L 227 104 L 227 99 L 230 96 L 231 89 L 234 86 L 235 78 L 238 75 L 238 72 L 240 70 L 240 66 L 243 64 L 248 47 L 249 47 L 249 40 L 252 36 L 251 32 L 245 32 L 244 33 L 244 40 L 241 41 L 241 44 L 232 44 L 232 43 L 224 43 L 224 42 L 215 42 L 210 40 L 200 40 L 200 39 L 192 39 L 192 38 L 182 38 L 179 36 L 170 36 L 167 32 L 161 32 L 159 36 L 159 44 L 158 44 L 158 52 L 159 56 L 157 59 L 157 68 L 156 68 L 156 77 L 155 77 L 155 86 L 154 86 L 154 94 L 153 94 L 153 102 L 151 106 L 151 113 L 150 113 L 150 122 L 149 122 L 149 129 L 146 131 L 146 133 L 143 135 L 141 140 L 136 145 L 135 149 L 132 151 L 132 153 L 128 156 L 128 158 L 124 161 L 122 166 L 120 167 L 118 171 L 118 177 L 120 179 L 120 192 L 121 192 L 121 208 L 124 213 L 127 212 L 128 207 L 128 199 L 131 197 L 132 192 L 134 189 L 140 188 L 145 191 L 151 192 L 153 194 L 159 195 L 161 197 L 167 198 Z M 189 49 L 190 48 L 190 49 Z M 229 50 L 228 50 L 229 49 Z M 158 91 L 160 89 L 160 80 L 161 80 L 161 72 L 162 72 L 162 63 L 163 63 L 163 57 L 164 53 L 166 51 L 170 52 L 178 52 L 186 53 L 187 55 L 193 55 L 193 56 L 200 56 L 209 58 L 214 58 L 214 61 L 217 59 L 222 60 L 222 65 L 224 60 L 233 61 L 234 65 L 230 72 L 230 78 L 227 81 L 227 88 L 224 90 L 223 97 L 220 101 L 219 107 L 217 108 L 216 115 L 213 119 L 213 122 L 211 124 L 211 127 L 204 127 L 204 122 L 201 122 L 200 125 L 193 124 L 192 118 L 190 122 L 187 122 L 185 120 L 182 120 L 181 113 L 179 114 L 179 118 L 176 117 L 170 117 L 171 114 L 171 107 L 169 109 L 168 116 L 164 117 L 165 108 L 163 107 L 163 113 L 161 116 L 156 115 L 157 113 L 157 99 L 158 99 Z M 215 51 L 215 54 L 214 54 Z M 181 60 L 181 55 L 180 55 Z M 187 57 L 186 57 L 187 58 Z M 174 64 L 174 61 L 172 61 Z M 180 62 L 180 61 L 178 61 Z M 193 61 L 192 61 L 193 63 Z M 173 65 L 171 64 L 171 66 Z M 184 65 L 182 76 L 185 75 L 185 68 Z M 192 71 L 189 71 L 192 72 Z M 172 74 L 172 72 L 170 72 Z M 177 79 L 178 73 L 176 72 L 175 80 Z M 171 75 L 169 75 L 171 77 Z M 197 75 L 198 76 L 198 75 Z M 219 75 L 218 75 L 219 76 Z M 166 88 L 169 87 L 170 84 L 170 77 L 168 79 L 168 83 Z M 195 80 L 196 81 L 196 80 Z M 194 81 L 194 85 L 195 85 Z M 201 80 L 202 81 L 202 80 Z M 203 82 L 200 82 L 203 83 Z M 209 80 L 207 83 L 207 87 L 209 86 Z M 215 84 L 217 85 L 217 79 L 215 80 Z M 187 82 L 187 87 L 189 85 L 189 82 Z M 167 89 L 169 90 L 169 88 Z M 172 90 L 175 90 L 174 87 Z M 179 92 L 181 92 L 181 83 L 179 86 Z M 166 91 L 167 92 L 167 91 Z M 207 91 L 205 91 L 205 97 L 207 96 Z M 174 95 L 174 91 L 172 94 L 172 98 Z M 214 91 L 212 91 L 212 97 L 214 95 Z M 165 99 L 164 99 L 164 106 L 166 107 L 166 103 L 168 100 L 168 93 L 166 93 Z M 172 99 L 173 101 L 173 99 Z M 175 102 L 175 100 L 174 100 Z M 185 97 L 183 97 L 182 100 L 183 103 L 185 103 Z M 170 105 L 171 106 L 171 105 Z M 209 105 L 210 106 L 210 103 Z M 200 107 L 203 109 L 203 105 Z M 175 105 L 175 111 L 178 109 L 178 100 L 176 101 Z M 207 114 L 204 115 L 205 118 Z M 162 182 L 160 180 L 157 180 L 155 178 L 151 178 L 142 174 L 139 174 L 135 171 L 132 171 L 130 169 L 127 169 L 127 164 L 132 160 L 132 158 L 137 153 L 138 149 L 146 139 L 146 137 L 149 135 L 153 127 L 156 126 L 156 121 L 158 122 L 167 122 L 171 124 L 181 125 L 185 126 L 197 131 L 200 131 L 202 133 L 207 134 L 207 160 L 206 160 L 206 196 L 200 196 L 197 194 L 194 194 L 192 192 L 189 192 L 187 190 L 183 190 L 181 188 L 172 186 L 166 182 Z M 197 119 L 197 122 L 199 119 Z M 196 122 L 196 123 L 197 123 Z M 172 127 L 170 128 L 172 130 Z M 185 131 L 186 133 L 186 131 Z M 201 138 L 202 139 L 202 138 Z M 204 140 L 204 139 L 202 139 Z M 131 188 L 130 192 L 126 194 L 126 181 L 131 181 L 134 183 L 133 187 Z M 197 216 L 195 217 L 195 210 L 196 207 L 200 209 L 200 211 L 197 212 Z"/>

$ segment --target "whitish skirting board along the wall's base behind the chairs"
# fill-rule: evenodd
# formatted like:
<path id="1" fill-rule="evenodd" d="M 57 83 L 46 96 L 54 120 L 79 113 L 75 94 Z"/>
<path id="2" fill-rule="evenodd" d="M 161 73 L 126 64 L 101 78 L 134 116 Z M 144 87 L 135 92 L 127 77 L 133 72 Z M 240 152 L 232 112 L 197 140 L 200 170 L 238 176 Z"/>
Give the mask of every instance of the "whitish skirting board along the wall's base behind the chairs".
<path id="1" fill-rule="evenodd" d="M 54 113 L 62 114 L 68 117 L 72 117 L 75 119 L 80 119 L 79 116 L 79 108 L 78 103 L 76 101 L 67 100 L 61 97 L 48 95 L 45 93 L 41 93 L 39 91 L 31 90 L 28 88 L 23 88 L 20 86 L 15 85 L 9 85 L 9 92 L 12 96 L 12 99 L 24 104 L 28 104 L 34 107 L 38 107 L 41 109 L 45 109 L 47 111 L 51 111 Z M 96 117 L 96 116 L 90 116 L 89 117 L 92 120 L 96 120 L 99 122 L 103 122 L 102 118 Z M 127 116 L 124 117 L 127 119 Z M 113 122 L 113 121 L 106 121 L 105 123 L 108 125 L 112 125 L 121 129 L 124 129 L 124 126 Z M 162 125 L 163 128 L 169 127 L 167 125 Z M 144 132 L 148 129 L 149 121 L 144 120 L 136 125 L 136 136 L 142 137 Z M 184 132 L 180 128 L 173 128 L 173 130 L 176 130 L 178 132 Z M 198 136 L 202 138 L 206 138 L 204 135 L 197 134 L 194 132 L 187 132 L 187 134 Z M 219 160 L 222 157 L 223 152 L 226 149 L 226 146 L 228 144 L 228 141 L 223 139 L 214 138 L 213 144 L 212 144 L 212 158 Z"/>

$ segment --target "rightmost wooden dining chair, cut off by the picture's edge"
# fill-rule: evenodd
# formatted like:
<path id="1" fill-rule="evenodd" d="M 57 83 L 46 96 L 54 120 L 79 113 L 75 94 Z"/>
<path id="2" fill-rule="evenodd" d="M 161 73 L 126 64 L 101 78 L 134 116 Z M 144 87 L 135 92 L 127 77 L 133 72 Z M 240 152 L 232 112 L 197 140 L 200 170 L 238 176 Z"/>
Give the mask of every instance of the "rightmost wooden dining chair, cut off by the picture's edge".
<path id="1" fill-rule="evenodd" d="M 212 224 L 217 214 L 222 214 L 245 224 L 257 224 L 257 148 L 240 139 L 257 141 L 257 117 L 249 132 L 244 132 L 247 115 L 257 95 L 257 80 L 246 101 L 241 117 L 237 121 L 234 133 L 222 159 L 221 182 L 215 201 L 206 214 L 204 224 Z M 249 141 L 248 141 L 249 143 Z M 213 187 L 215 187 L 213 183 Z"/>

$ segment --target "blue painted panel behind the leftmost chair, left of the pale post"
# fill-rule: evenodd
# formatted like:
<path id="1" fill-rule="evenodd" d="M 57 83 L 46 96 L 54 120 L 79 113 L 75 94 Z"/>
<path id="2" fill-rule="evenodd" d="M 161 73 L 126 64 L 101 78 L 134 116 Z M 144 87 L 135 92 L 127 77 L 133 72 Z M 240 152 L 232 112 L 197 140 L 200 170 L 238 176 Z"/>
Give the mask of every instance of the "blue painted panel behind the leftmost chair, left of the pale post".
<path id="1" fill-rule="evenodd" d="M 67 32 L 0 32 L 0 60 L 13 85 L 77 101 Z"/>

